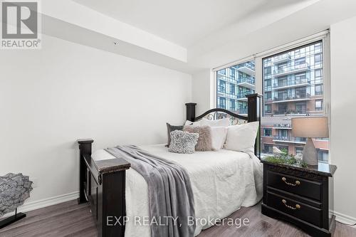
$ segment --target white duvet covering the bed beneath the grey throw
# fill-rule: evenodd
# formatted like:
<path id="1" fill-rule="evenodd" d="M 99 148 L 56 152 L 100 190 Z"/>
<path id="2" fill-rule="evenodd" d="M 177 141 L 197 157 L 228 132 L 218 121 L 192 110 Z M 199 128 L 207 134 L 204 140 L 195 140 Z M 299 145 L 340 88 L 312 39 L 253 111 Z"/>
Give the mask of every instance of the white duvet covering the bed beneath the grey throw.
<path id="1" fill-rule="evenodd" d="M 168 152 L 164 144 L 140 147 L 187 169 L 196 218 L 224 218 L 241 206 L 253 206 L 261 200 L 262 165 L 257 157 L 226 149 L 177 154 Z M 115 159 L 103 149 L 94 152 L 92 157 L 95 160 Z M 126 172 L 126 212 L 129 221 L 125 226 L 125 236 L 150 237 L 150 226 L 143 221 L 145 216 L 149 216 L 147 182 L 134 169 Z M 203 224 L 204 221 L 197 221 L 194 236 L 211 226 Z"/>

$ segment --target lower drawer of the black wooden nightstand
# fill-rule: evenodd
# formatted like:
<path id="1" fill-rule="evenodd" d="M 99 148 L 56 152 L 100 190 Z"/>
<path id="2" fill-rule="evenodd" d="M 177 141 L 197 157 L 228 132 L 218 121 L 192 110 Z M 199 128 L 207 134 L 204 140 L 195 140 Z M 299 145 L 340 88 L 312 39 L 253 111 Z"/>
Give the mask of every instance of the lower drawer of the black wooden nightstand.
<path id="1" fill-rule="evenodd" d="M 308 221 L 315 226 L 323 226 L 323 211 L 322 209 L 317 209 L 308 204 L 304 204 L 300 200 L 288 199 L 285 196 L 275 194 L 273 192 L 267 191 L 267 203 L 268 206 L 277 209 L 278 211 L 283 211 L 290 216 L 295 216 L 303 221 Z"/>

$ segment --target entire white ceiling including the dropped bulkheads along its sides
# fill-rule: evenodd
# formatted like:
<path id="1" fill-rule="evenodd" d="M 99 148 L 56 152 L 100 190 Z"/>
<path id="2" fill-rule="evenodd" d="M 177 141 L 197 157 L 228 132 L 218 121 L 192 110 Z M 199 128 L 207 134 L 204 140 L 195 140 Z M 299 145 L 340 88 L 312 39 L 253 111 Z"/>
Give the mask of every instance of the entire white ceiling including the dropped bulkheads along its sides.
<path id="1" fill-rule="evenodd" d="M 328 29 L 355 16 L 356 1 L 48 0 L 41 9 L 42 33 L 192 74 Z"/>

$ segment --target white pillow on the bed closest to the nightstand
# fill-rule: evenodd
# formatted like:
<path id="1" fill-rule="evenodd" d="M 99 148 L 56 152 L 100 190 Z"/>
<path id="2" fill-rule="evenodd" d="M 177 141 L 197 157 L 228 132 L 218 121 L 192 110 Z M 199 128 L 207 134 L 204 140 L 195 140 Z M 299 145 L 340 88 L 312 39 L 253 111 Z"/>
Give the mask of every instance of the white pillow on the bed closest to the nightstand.
<path id="1" fill-rule="evenodd" d="M 244 125 L 229 126 L 225 149 L 236 152 L 254 152 L 259 122 L 248 122 Z"/>

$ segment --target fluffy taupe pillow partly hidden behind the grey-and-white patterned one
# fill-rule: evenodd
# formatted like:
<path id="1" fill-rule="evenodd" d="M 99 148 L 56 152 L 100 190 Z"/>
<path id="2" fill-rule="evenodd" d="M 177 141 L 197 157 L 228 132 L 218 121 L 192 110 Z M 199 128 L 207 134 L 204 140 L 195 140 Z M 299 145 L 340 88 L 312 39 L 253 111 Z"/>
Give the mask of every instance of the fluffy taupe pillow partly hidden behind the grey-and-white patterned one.
<path id="1" fill-rule="evenodd" d="M 212 140 L 211 140 L 211 127 L 209 126 L 192 126 L 186 125 L 183 127 L 184 132 L 194 132 L 199 134 L 197 145 L 195 146 L 196 151 L 206 152 L 211 151 Z"/>

